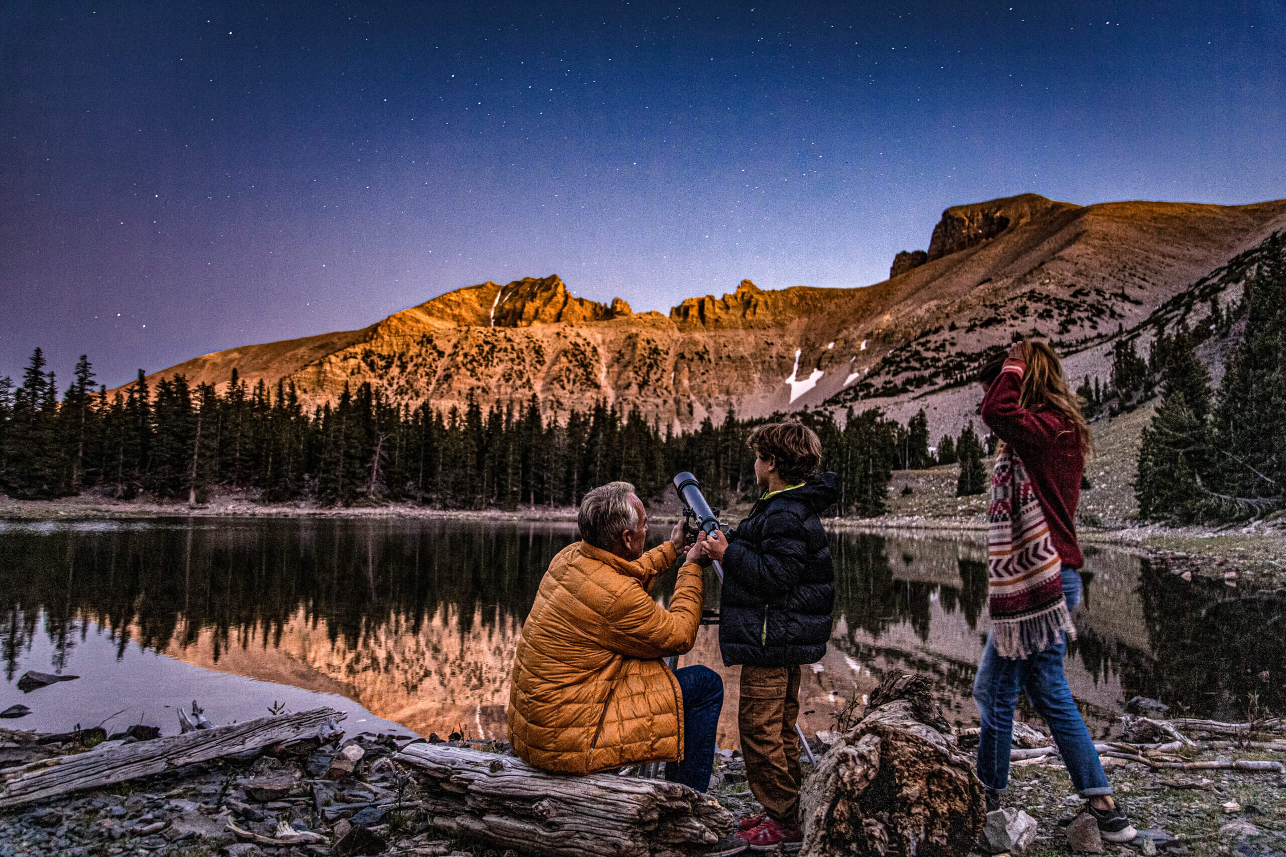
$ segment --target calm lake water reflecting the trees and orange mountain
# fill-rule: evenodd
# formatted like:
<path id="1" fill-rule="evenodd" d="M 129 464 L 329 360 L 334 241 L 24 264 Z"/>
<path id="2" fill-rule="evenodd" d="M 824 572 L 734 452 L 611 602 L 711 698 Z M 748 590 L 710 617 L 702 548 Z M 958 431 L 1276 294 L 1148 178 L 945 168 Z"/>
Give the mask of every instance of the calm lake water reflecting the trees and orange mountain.
<path id="1" fill-rule="evenodd" d="M 174 709 L 198 699 L 215 723 L 328 704 L 350 729 L 504 738 L 518 631 L 575 537 L 571 524 L 448 520 L 0 524 L 0 709 L 32 708 L 0 725 L 68 730 L 125 709 L 111 725 L 172 734 Z M 805 668 L 805 726 L 829 727 L 889 669 L 931 675 L 949 716 L 976 722 L 985 546 L 844 533 L 832 550 L 835 633 Z M 1084 572 L 1067 675 L 1096 734 L 1136 694 L 1222 720 L 1253 693 L 1282 709 L 1280 597 L 1186 583 L 1110 550 L 1088 550 Z M 716 630 L 680 663 L 724 675 L 719 743 L 736 747 L 737 668 L 721 666 Z M 27 669 L 80 678 L 23 694 Z"/>

